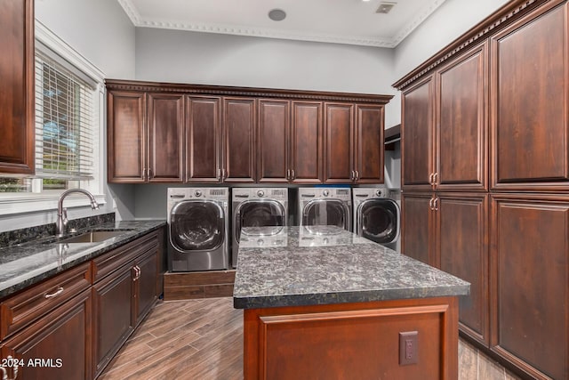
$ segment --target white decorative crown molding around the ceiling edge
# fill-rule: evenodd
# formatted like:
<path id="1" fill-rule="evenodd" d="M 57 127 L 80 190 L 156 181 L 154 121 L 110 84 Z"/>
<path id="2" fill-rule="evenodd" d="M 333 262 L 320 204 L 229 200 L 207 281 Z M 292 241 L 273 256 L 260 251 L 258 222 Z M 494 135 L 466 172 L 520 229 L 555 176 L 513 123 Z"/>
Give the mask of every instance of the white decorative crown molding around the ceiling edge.
<path id="1" fill-rule="evenodd" d="M 202 33 L 216 33 L 234 36 L 255 36 L 265 38 L 276 38 L 295 41 L 321 42 L 327 44 L 355 44 L 361 46 L 395 48 L 397 44 L 409 36 L 415 28 L 421 25 L 437 8 L 445 3 L 445 0 L 433 0 L 429 6 L 399 29 L 392 38 L 382 38 L 373 36 L 343 36 L 325 33 L 298 33 L 278 28 L 248 28 L 239 25 L 210 24 L 199 22 L 180 22 L 173 20 L 158 20 L 140 16 L 136 5 L 132 0 L 117 0 L 123 7 L 124 12 L 132 21 L 132 25 L 137 28 L 164 28 L 174 30 L 186 30 Z"/>

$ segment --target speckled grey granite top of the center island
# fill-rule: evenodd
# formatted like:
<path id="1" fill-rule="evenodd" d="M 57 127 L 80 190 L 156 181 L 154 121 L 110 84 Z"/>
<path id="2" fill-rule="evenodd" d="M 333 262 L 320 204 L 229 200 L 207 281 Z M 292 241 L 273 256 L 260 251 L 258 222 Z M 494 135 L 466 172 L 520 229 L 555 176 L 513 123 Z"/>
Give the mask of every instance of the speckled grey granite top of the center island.
<path id="1" fill-rule="evenodd" d="M 276 234 L 255 228 L 242 230 L 233 300 L 237 309 L 255 309 L 468 295 L 469 289 L 445 271 L 337 227 Z"/>

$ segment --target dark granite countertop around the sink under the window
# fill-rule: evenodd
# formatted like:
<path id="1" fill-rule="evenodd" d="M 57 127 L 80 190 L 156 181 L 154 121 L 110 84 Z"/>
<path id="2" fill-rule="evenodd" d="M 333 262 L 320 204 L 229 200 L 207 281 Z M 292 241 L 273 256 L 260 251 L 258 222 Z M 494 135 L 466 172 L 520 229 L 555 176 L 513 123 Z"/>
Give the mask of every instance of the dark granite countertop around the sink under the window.
<path id="1" fill-rule="evenodd" d="M 3 247 L 0 249 L 0 298 L 123 246 L 165 224 L 165 221 L 107 222 L 68 236 L 80 235 L 87 230 L 121 230 L 124 233 L 97 243 L 60 244 L 51 237 Z"/>

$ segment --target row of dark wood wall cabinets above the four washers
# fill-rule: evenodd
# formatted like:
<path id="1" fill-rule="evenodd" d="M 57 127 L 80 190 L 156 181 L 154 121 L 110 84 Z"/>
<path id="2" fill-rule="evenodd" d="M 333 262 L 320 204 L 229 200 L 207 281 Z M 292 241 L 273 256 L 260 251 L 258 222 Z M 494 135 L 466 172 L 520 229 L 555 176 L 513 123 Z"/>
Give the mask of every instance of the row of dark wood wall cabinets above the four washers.
<path id="1" fill-rule="evenodd" d="M 117 80 L 107 88 L 109 182 L 383 182 L 391 96 Z"/>

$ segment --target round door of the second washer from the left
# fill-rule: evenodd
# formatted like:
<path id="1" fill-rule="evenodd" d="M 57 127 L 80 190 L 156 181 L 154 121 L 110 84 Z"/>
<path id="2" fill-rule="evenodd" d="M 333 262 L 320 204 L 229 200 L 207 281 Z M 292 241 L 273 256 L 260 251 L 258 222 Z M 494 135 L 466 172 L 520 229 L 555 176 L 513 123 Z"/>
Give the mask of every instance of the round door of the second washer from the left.
<path id="1" fill-rule="evenodd" d="M 286 225 L 284 206 L 273 199 L 245 200 L 235 210 L 234 234 L 239 243 L 244 227 L 274 227 L 256 235 L 276 235 Z"/>

